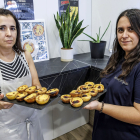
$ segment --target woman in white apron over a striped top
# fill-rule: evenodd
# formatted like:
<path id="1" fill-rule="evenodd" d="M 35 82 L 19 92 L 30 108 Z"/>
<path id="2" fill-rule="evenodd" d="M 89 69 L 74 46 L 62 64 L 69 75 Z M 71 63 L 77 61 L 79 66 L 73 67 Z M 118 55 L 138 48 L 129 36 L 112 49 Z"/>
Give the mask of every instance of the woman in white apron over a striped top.
<path id="1" fill-rule="evenodd" d="M 0 99 L 22 85 L 41 87 L 30 53 L 20 42 L 20 25 L 0 9 Z M 0 140 L 43 140 L 35 109 L 0 101 Z"/>

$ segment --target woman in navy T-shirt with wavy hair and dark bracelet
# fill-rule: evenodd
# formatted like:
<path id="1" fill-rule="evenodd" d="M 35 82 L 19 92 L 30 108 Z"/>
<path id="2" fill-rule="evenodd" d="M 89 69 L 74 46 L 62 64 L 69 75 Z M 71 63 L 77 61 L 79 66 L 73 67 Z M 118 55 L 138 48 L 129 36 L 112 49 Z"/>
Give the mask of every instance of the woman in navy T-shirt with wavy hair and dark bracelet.
<path id="1" fill-rule="evenodd" d="M 113 54 L 101 77 L 107 92 L 84 107 L 96 110 L 92 139 L 140 140 L 140 10 L 119 15 Z"/>

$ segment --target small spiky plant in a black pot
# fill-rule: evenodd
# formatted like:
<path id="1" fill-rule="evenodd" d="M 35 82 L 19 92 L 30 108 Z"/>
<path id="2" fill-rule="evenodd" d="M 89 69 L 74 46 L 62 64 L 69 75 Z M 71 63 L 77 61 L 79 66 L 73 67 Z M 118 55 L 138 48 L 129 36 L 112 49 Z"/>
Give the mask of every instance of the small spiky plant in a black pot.
<path id="1" fill-rule="evenodd" d="M 91 37 L 90 35 L 88 35 L 86 33 L 83 33 L 92 39 L 92 40 L 80 40 L 80 41 L 90 41 L 91 58 L 96 58 L 96 59 L 97 58 L 104 58 L 106 41 L 102 41 L 102 38 L 105 35 L 106 31 L 108 30 L 110 23 L 111 23 L 111 21 L 109 22 L 106 30 L 104 31 L 104 33 L 102 34 L 101 37 L 100 37 L 100 28 L 101 27 L 99 27 L 99 33 L 98 34 L 96 33 L 97 39 Z"/>

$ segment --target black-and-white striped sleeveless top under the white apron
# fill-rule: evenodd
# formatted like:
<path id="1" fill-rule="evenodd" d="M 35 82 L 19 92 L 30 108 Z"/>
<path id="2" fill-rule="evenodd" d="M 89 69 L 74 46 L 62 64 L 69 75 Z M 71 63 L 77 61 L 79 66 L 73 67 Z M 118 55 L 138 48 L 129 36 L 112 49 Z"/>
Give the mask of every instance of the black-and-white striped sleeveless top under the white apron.
<path id="1" fill-rule="evenodd" d="M 28 69 L 26 68 L 25 64 L 22 62 L 21 59 L 23 59 L 26 64 L 27 61 L 25 60 L 22 53 L 20 54 L 20 56 L 21 57 L 19 57 L 19 55 L 16 54 L 12 62 L 4 62 L 2 60 L 0 61 L 0 69 L 3 80 L 5 81 L 14 80 L 15 78 L 21 78 L 29 74 Z"/>

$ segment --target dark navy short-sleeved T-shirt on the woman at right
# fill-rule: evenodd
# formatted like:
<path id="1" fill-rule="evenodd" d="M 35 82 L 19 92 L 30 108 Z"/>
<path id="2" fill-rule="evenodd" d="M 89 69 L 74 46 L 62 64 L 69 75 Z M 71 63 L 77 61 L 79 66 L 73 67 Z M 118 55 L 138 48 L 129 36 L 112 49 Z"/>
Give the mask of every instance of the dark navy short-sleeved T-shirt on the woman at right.
<path id="1" fill-rule="evenodd" d="M 132 69 L 126 82 L 118 79 L 122 73 L 121 64 L 115 72 L 102 78 L 101 83 L 107 89 L 102 99 L 109 104 L 133 106 L 134 102 L 140 103 L 140 63 Z M 94 122 L 93 140 L 140 140 L 140 126 L 119 121 L 98 111 Z"/>

